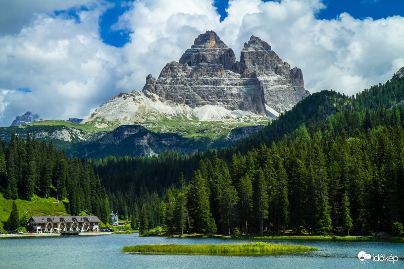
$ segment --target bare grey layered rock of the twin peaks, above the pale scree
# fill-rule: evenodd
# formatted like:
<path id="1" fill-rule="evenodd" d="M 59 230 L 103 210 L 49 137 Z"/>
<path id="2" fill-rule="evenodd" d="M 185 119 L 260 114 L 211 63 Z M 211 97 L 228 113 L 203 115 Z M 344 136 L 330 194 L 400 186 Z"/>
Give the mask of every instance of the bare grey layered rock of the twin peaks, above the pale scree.
<path id="1" fill-rule="evenodd" d="M 281 113 L 309 95 L 301 70 L 290 69 L 267 42 L 251 36 L 236 62 L 233 50 L 213 31 L 199 35 L 179 62 L 168 63 L 157 80 L 148 75 L 143 93 L 192 109 L 220 105 L 262 116 L 267 115 L 268 106 Z"/>

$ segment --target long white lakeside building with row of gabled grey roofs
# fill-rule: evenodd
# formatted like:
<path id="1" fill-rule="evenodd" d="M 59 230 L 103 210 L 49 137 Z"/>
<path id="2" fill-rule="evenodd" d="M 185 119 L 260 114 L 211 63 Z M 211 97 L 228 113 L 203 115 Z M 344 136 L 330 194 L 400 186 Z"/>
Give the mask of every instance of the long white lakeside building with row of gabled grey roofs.
<path id="1" fill-rule="evenodd" d="M 28 230 L 36 233 L 98 232 L 101 221 L 97 216 L 35 216 L 28 220 Z"/>

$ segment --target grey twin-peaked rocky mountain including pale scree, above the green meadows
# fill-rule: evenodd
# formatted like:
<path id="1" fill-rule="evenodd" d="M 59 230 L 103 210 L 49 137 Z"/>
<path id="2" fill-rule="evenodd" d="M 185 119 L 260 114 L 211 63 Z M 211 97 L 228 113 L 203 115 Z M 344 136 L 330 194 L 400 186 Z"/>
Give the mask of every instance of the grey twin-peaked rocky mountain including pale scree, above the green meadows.
<path id="1" fill-rule="evenodd" d="M 251 36 L 240 62 L 213 31 L 200 34 L 178 62 L 159 78 L 146 77 L 141 92 L 120 93 L 83 123 L 95 127 L 163 120 L 276 119 L 309 95 L 301 70 L 290 65 L 260 38 Z"/>

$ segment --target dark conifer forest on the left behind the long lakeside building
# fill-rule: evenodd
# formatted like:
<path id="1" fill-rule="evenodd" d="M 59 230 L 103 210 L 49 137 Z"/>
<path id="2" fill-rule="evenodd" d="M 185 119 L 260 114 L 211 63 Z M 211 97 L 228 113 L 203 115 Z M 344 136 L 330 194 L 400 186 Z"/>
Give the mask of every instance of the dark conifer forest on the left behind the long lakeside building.
<path id="1" fill-rule="evenodd" d="M 66 209 L 72 215 L 87 211 L 104 223 L 110 216 L 107 192 L 91 165 L 68 159 L 52 141 L 38 142 L 29 135 L 23 139 L 13 134 L 10 143 L 0 142 L 0 189 L 6 199 L 52 195 L 68 199 Z"/>

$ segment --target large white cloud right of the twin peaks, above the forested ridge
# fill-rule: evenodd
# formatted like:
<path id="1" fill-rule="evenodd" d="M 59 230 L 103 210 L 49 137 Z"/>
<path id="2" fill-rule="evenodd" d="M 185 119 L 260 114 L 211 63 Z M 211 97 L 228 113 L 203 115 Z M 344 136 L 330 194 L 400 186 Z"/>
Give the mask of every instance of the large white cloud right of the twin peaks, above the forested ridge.
<path id="1" fill-rule="evenodd" d="M 239 25 L 229 23 L 231 13 L 221 24 L 238 28 L 237 37 L 224 31 L 224 38 L 232 40 L 235 51 L 251 34 L 266 40 L 283 61 L 302 69 L 311 92 L 334 89 L 354 94 L 385 82 L 404 65 L 402 17 L 358 20 L 343 13 L 334 20 L 318 20 L 315 15 L 325 6 L 317 0 L 255 1 L 258 12 L 243 14 L 243 2 L 231 2 L 242 18 Z"/>

